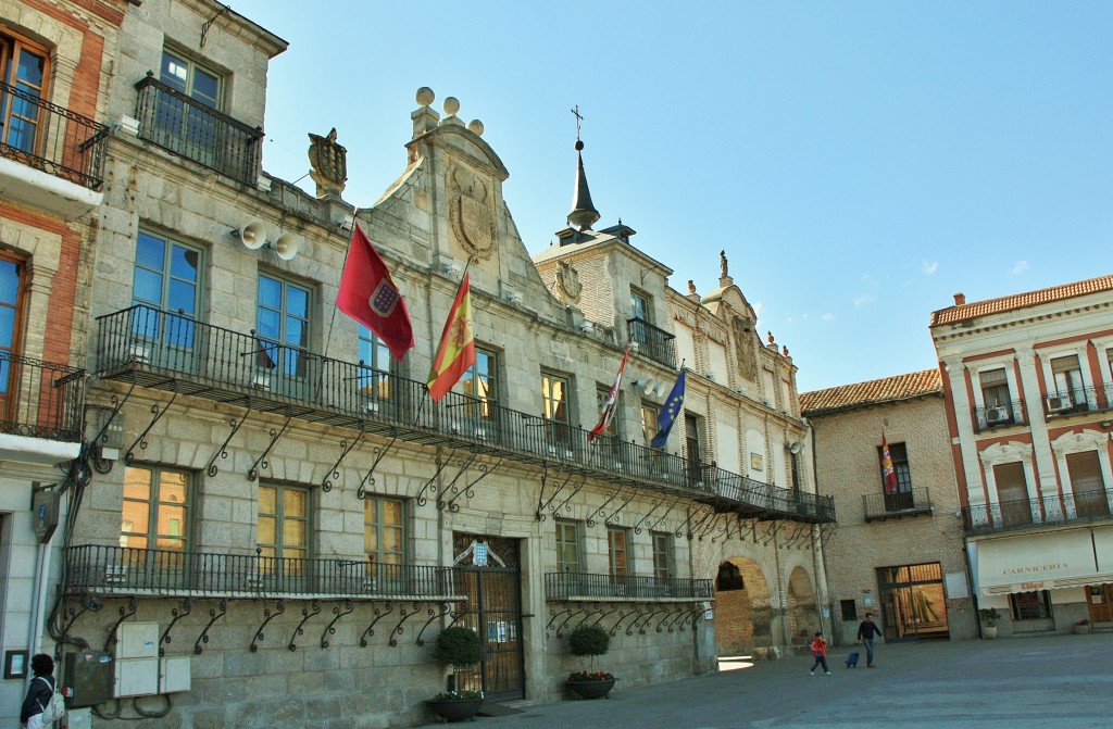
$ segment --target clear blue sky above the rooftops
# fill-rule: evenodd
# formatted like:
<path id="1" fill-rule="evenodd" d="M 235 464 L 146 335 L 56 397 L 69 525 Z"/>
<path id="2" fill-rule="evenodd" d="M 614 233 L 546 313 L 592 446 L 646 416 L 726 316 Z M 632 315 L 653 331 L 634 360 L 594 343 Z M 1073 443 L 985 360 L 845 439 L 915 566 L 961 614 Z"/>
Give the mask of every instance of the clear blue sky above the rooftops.
<path id="1" fill-rule="evenodd" d="M 955 292 L 1113 272 L 1113 2 L 232 7 L 290 43 L 268 173 L 305 175 L 306 134 L 336 127 L 370 206 L 429 86 L 483 121 L 535 253 L 565 225 L 579 105 L 599 227 L 621 217 L 679 290 L 711 290 L 725 248 L 801 392 L 935 366 Z"/>

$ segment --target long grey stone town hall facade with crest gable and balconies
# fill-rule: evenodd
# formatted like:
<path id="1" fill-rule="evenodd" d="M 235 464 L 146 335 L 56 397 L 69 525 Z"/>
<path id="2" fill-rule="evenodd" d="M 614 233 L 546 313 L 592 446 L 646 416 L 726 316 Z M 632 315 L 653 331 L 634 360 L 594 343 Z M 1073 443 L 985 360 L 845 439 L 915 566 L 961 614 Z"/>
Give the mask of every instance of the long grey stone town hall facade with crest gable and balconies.
<path id="1" fill-rule="evenodd" d="M 434 110 L 429 89 L 374 207 L 343 198 L 343 130 L 313 136 L 309 195 L 262 166 L 267 65 L 286 41 L 211 0 L 51 4 L 111 10 L 116 29 L 96 225 L 59 256 L 85 283 L 66 357 L 89 374 L 85 431 L 30 641 L 59 657 L 77 712 L 413 725 L 445 688 L 431 643 L 452 624 L 484 642 L 459 686 L 489 700 L 561 698 L 583 668 L 564 639 L 589 621 L 613 636 L 600 667 L 621 687 L 691 676 L 716 667 L 716 583 L 739 590 L 733 562 L 746 591 L 766 585 L 743 601 L 761 613 L 748 640 L 778 652 L 810 624 L 834 508 L 786 460 L 804 447 L 791 361 L 757 341 L 725 262 L 702 302 L 671 290 L 626 228 L 591 230 L 585 180 L 561 236 L 599 245 L 531 257 L 483 125 L 451 97 Z M 10 6 L 4 22 L 37 32 Z M 334 306 L 355 225 L 408 309 L 401 362 Z M 465 269 L 476 363 L 434 404 L 426 373 Z M 610 288 L 584 285 L 591 272 Z M 69 328 L 46 318 L 28 341 Z M 653 450 L 678 342 L 690 390 Z M 631 343 L 641 396 L 589 441 Z"/>

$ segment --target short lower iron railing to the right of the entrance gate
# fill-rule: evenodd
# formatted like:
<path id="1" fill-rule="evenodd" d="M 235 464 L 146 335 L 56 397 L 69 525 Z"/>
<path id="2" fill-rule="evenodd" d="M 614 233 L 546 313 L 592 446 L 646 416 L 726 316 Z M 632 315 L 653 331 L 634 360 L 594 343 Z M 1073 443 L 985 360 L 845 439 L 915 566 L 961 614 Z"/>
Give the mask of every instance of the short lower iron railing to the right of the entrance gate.
<path id="1" fill-rule="evenodd" d="M 710 600 L 711 580 L 546 572 L 545 600 Z"/>

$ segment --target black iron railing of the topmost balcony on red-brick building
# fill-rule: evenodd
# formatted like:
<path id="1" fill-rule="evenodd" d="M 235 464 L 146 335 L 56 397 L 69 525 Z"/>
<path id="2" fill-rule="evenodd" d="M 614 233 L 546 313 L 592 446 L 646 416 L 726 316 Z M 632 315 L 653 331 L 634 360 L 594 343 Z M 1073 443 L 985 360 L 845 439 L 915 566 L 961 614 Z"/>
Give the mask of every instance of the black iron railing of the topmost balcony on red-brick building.
<path id="1" fill-rule="evenodd" d="M 0 83 L 0 156 L 100 189 L 108 127 L 9 83 Z"/>

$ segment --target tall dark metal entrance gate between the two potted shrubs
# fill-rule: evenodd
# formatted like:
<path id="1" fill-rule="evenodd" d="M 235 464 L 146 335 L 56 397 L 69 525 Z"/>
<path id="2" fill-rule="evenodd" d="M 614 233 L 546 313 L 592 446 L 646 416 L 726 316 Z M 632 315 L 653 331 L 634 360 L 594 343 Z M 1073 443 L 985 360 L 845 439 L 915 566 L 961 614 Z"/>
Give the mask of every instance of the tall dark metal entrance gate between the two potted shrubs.
<path id="1" fill-rule="evenodd" d="M 465 689 L 482 689 L 491 700 L 525 698 L 522 652 L 522 588 L 519 542 L 501 536 L 453 534 L 456 592 L 467 595 L 467 612 L 456 623 L 483 640 L 480 671 Z"/>

